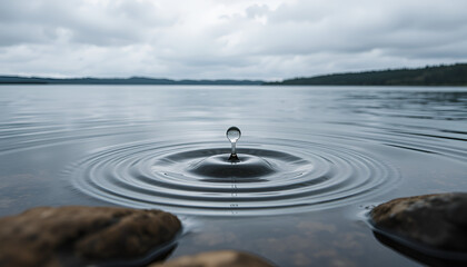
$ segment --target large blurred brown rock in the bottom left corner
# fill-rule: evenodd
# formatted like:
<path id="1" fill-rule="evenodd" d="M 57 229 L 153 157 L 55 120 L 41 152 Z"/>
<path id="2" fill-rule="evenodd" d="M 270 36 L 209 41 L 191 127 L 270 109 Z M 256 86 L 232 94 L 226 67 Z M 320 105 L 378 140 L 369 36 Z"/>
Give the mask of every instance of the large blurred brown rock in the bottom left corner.
<path id="1" fill-rule="evenodd" d="M 160 210 L 40 207 L 0 219 L 0 266 L 132 259 L 172 240 L 180 221 Z"/>

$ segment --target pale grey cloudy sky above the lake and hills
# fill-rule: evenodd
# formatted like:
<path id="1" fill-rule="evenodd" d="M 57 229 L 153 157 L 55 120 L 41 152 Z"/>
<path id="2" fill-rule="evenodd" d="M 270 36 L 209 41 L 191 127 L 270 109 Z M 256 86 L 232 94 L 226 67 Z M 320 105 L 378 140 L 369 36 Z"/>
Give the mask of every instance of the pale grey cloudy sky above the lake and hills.
<path id="1" fill-rule="evenodd" d="M 275 80 L 466 61 L 466 0 L 0 0 L 0 75 Z"/>

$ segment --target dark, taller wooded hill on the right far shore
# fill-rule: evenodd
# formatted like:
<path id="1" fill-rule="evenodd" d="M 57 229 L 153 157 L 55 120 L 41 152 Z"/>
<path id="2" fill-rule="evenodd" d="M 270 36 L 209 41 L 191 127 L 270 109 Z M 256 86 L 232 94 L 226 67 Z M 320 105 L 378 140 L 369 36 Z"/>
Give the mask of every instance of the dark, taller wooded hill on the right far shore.
<path id="1" fill-rule="evenodd" d="M 265 85 L 280 86 L 467 86 L 467 63 L 349 72 L 295 78 Z"/>

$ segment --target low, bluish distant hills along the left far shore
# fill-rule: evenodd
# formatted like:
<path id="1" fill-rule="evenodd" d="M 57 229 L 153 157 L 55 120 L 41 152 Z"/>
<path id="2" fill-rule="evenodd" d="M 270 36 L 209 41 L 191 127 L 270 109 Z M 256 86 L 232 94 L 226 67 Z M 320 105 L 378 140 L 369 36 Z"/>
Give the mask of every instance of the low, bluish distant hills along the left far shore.
<path id="1" fill-rule="evenodd" d="M 101 78 L 40 78 L 0 76 L 0 85 L 189 85 L 189 86 L 257 86 L 260 80 L 170 80 L 145 77 L 131 77 L 122 79 Z"/>

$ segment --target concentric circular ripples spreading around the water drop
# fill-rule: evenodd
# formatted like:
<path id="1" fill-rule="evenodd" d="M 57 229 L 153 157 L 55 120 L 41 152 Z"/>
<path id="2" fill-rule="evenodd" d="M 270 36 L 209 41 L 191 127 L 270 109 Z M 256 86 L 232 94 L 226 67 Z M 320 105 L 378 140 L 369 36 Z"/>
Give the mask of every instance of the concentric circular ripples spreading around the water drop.
<path id="1" fill-rule="evenodd" d="M 223 148 L 222 148 L 223 147 Z M 72 168 L 82 192 L 118 205 L 196 215 L 276 215 L 348 205 L 399 179 L 390 166 L 334 144 L 140 142 L 106 148 Z"/>

